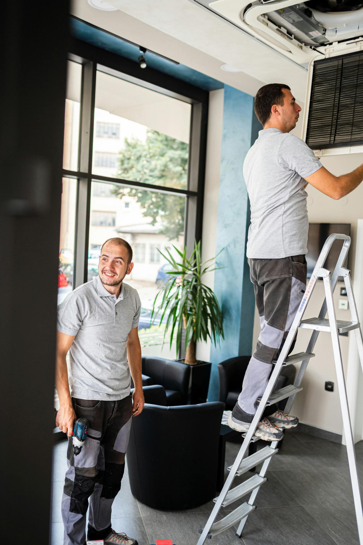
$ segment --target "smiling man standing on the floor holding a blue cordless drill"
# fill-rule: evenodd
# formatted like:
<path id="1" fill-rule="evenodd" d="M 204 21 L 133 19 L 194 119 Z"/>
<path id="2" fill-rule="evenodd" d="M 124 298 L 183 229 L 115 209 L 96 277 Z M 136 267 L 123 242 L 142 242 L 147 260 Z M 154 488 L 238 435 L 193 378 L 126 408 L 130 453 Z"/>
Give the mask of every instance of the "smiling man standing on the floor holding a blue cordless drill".
<path id="1" fill-rule="evenodd" d="M 138 337 L 141 302 L 136 289 L 123 282 L 132 269 L 130 244 L 108 239 L 101 248 L 99 276 L 73 290 L 58 306 L 56 423 L 69 437 L 61 503 L 65 545 L 84 545 L 88 502 L 88 540 L 137 545 L 111 528 L 131 418 L 144 406 Z M 81 452 L 74 456 L 71 435 L 79 417 L 88 420 L 89 430 Z"/>

